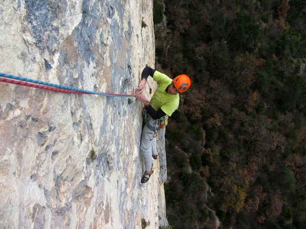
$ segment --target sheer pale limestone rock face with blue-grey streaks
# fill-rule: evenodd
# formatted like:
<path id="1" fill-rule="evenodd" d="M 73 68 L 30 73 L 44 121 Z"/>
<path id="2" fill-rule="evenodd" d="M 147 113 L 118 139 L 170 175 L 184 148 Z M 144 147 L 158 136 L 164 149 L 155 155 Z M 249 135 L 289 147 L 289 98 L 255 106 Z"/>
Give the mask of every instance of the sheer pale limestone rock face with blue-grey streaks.
<path id="1" fill-rule="evenodd" d="M 149 0 L 8 0 L 0 32 L 0 72 L 74 88 L 131 94 L 155 64 Z M 0 82 L 0 227 L 167 225 L 165 156 L 140 184 L 142 107 Z"/>

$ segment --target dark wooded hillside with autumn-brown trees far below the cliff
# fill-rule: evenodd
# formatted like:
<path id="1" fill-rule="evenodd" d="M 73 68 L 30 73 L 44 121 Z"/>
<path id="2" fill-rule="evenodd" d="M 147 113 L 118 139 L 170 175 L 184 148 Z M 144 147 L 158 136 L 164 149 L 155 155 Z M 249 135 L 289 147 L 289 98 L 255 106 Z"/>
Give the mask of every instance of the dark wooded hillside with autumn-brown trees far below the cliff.
<path id="1" fill-rule="evenodd" d="M 154 22 L 156 68 L 192 79 L 166 130 L 171 227 L 305 228 L 306 0 L 155 0 Z"/>

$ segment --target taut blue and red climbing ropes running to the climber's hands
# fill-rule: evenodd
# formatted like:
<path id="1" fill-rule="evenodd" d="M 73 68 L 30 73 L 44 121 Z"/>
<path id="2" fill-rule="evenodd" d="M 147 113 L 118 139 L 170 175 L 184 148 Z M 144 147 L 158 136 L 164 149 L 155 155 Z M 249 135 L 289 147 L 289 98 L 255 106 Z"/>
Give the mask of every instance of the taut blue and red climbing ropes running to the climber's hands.
<path id="1" fill-rule="evenodd" d="M 61 93 L 94 94 L 94 95 L 111 96 L 111 97 L 118 97 L 118 96 L 135 97 L 134 92 L 133 92 L 133 94 L 116 94 L 116 93 L 106 93 L 106 92 L 92 92 L 92 91 L 87 91 L 87 90 L 83 90 L 83 89 L 67 87 L 67 86 L 60 85 L 60 84 L 48 83 L 48 82 L 43 82 L 43 81 L 39 81 L 39 80 L 24 78 L 24 77 L 20 77 L 20 76 L 9 75 L 9 74 L 5 74 L 5 73 L 1 73 L 1 72 L 0 72 L 0 81 L 1 82 L 18 84 L 18 85 L 23 85 L 23 86 L 32 87 L 32 88 L 43 89 L 43 90 L 61 92 Z M 138 95 L 136 95 L 136 96 L 138 96 Z"/>

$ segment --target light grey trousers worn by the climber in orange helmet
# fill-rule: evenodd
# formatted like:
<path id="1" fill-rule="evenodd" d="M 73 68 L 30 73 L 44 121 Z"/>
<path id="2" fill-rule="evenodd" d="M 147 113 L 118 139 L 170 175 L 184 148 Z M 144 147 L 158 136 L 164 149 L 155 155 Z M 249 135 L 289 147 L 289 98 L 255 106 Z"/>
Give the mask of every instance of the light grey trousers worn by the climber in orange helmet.
<path id="1" fill-rule="evenodd" d="M 152 168 L 152 155 L 157 154 L 156 150 L 156 130 L 157 120 L 152 119 L 147 114 L 147 122 L 143 127 L 141 134 L 140 150 L 142 151 L 145 163 L 145 170 L 150 171 Z"/>

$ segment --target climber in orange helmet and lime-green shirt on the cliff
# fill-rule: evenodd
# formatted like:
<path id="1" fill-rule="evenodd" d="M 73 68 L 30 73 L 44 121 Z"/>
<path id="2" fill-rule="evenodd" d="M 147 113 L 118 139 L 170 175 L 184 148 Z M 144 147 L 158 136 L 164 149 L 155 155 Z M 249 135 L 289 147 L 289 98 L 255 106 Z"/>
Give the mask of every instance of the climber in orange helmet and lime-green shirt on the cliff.
<path id="1" fill-rule="evenodd" d="M 142 94 L 148 76 L 158 83 L 158 87 L 148 101 Z M 141 134 L 140 150 L 144 156 L 145 172 L 141 183 L 146 183 L 154 173 L 152 169 L 152 158 L 157 159 L 156 139 L 154 136 L 161 128 L 160 122 L 167 122 L 168 116 L 179 108 L 179 93 L 186 92 L 190 87 L 191 81 L 187 75 L 178 75 L 173 80 L 165 74 L 150 67 L 145 67 L 141 73 L 141 81 L 136 89 L 135 97 L 143 102 L 146 122 Z M 138 93 L 138 94 L 137 94 Z"/>

